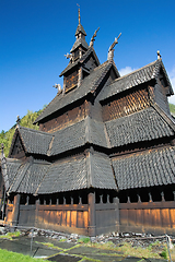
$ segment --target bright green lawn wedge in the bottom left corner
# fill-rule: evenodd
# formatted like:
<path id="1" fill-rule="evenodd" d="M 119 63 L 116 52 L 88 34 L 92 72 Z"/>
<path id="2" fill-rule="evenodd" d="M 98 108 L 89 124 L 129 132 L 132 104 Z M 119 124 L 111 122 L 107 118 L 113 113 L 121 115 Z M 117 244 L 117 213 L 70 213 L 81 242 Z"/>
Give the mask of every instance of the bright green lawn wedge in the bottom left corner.
<path id="1" fill-rule="evenodd" d="M 14 253 L 8 250 L 0 249 L 1 262 L 44 262 L 43 259 L 33 259 L 30 255 Z M 46 262 L 46 261 L 45 261 Z"/>

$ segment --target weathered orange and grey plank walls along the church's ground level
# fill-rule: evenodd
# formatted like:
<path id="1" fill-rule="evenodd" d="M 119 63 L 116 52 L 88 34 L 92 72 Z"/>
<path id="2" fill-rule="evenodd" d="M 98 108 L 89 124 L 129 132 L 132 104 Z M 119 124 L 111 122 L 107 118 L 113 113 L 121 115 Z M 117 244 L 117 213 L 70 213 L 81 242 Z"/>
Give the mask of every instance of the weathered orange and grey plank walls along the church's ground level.
<path id="1" fill-rule="evenodd" d="M 13 204 L 7 222 L 13 223 Z M 20 205 L 19 225 L 89 235 L 89 205 Z M 175 235 L 175 201 L 95 204 L 95 234 L 133 231 Z"/>

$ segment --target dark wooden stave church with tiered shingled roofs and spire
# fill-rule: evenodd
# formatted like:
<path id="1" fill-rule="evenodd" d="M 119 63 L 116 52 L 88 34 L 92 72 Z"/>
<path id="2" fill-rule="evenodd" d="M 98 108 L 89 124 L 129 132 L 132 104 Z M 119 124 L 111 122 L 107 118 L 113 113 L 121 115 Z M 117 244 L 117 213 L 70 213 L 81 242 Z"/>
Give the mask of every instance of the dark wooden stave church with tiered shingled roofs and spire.
<path id="1" fill-rule="evenodd" d="M 175 234 L 173 88 L 161 56 L 120 76 L 118 38 L 100 64 L 96 32 L 90 45 L 85 36 L 79 12 L 63 88 L 35 120 L 39 131 L 18 123 L 9 157 L 2 148 L 5 223 L 88 236 Z"/>

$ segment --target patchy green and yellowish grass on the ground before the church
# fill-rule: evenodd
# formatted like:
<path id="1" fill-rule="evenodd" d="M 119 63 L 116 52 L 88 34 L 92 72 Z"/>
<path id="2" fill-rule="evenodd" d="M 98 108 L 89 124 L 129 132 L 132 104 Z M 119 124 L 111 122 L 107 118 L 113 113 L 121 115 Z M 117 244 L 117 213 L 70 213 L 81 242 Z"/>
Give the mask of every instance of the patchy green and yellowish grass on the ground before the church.
<path id="1" fill-rule="evenodd" d="M 20 236 L 20 231 L 15 231 L 15 233 L 8 233 L 5 235 L 1 235 L 0 238 L 5 238 L 5 239 L 12 240 L 13 238 L 16 238 L 19 236 Z M 66 241 L 66 239 L 60 240 L 60 242 L 63 242 L 63 241 Z M 56 247 L 52 243 L 50 243 L 49 241 L 48 242 L 37 242 L 37 243 L 47 246 L 48 248 L 51 248 L 51 249 L 57 249 L 58 252 L 63 252 L 63 253 L 67 253 L 67 252 L 69 253 L 69 251 L 71 249 L 77 249 L 80 247 L 90 247 L 90 248 L 96 248 L 96 249 L 103 250 L 101 252 L 104 252 L 104 255 L 109 255 L 108 253 L 105 253 L 105 252 L 107 252 L 107 250 L 112 250 L 110 253 L 115 253 L 116 255 L 118 253 L 118 254 L 124 254 L 124 257 L 130 255 L 130 257 L 137 257 L 140 259 L 143 259 L 143 258 L 145 258 L 145 259 L 149 259 L 149 258 L 165 259 L 166 261 L 167 260 L 170 261 L 166 242 L 154 241 L 154 242 L 151 242 L 150 245 L 148 243 L 147 247 L 140 247 L 141 245 L 138 245 L 136 247 L 135 242 L 136 242 L 136 240 L 132 241 L 131 239 L 129 239 L 128 241 L 124 240 L 122 242 L 119 242 L 116 245 L 113 243 L 113 241 L 108 241 L 106 243 L 91 242 L 89 237 L 82 237 L 82 238 L 79 238 L 78 243 L 74 247 L 68 248 L 68 249 L 67 248 L 62 249 L 62 248 Z M 79 255 L 79 257 L 81 258 L 82 255 Z M 175 246 L 171 250 L 171 257 L 172 257 L 172 261 L 175 261 Z M 84 259 L 84 258 L 82 257 L 82 259 Z M 1 262 L 11 262 L 11 261 L 13 261 L 13 262 L 19 262 L 19 261 L 42 262 L 45 260 L 38 260 L 38 259 L 36 260 L 28 255 L 23 255 L 23 254 L 9 252 L 7 250 L 0 249 L 0 261 Z"/>

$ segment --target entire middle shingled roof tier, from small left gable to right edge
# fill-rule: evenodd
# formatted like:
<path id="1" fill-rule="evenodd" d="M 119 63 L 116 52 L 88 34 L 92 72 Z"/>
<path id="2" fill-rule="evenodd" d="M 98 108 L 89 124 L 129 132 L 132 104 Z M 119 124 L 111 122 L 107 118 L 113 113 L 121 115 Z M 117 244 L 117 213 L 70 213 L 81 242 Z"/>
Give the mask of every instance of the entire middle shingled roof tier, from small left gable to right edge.
<path id="1" fill-rule="evenodd" d="M 26 153 L 54 156 L 88 143 L 112 148 L 168 138 L 175 133 L 175 122 L 155 104 L 153 107 L 105 123 L 88 116 L 55 133 L 23 127 L 18 128 L 18 133 Z"/>

